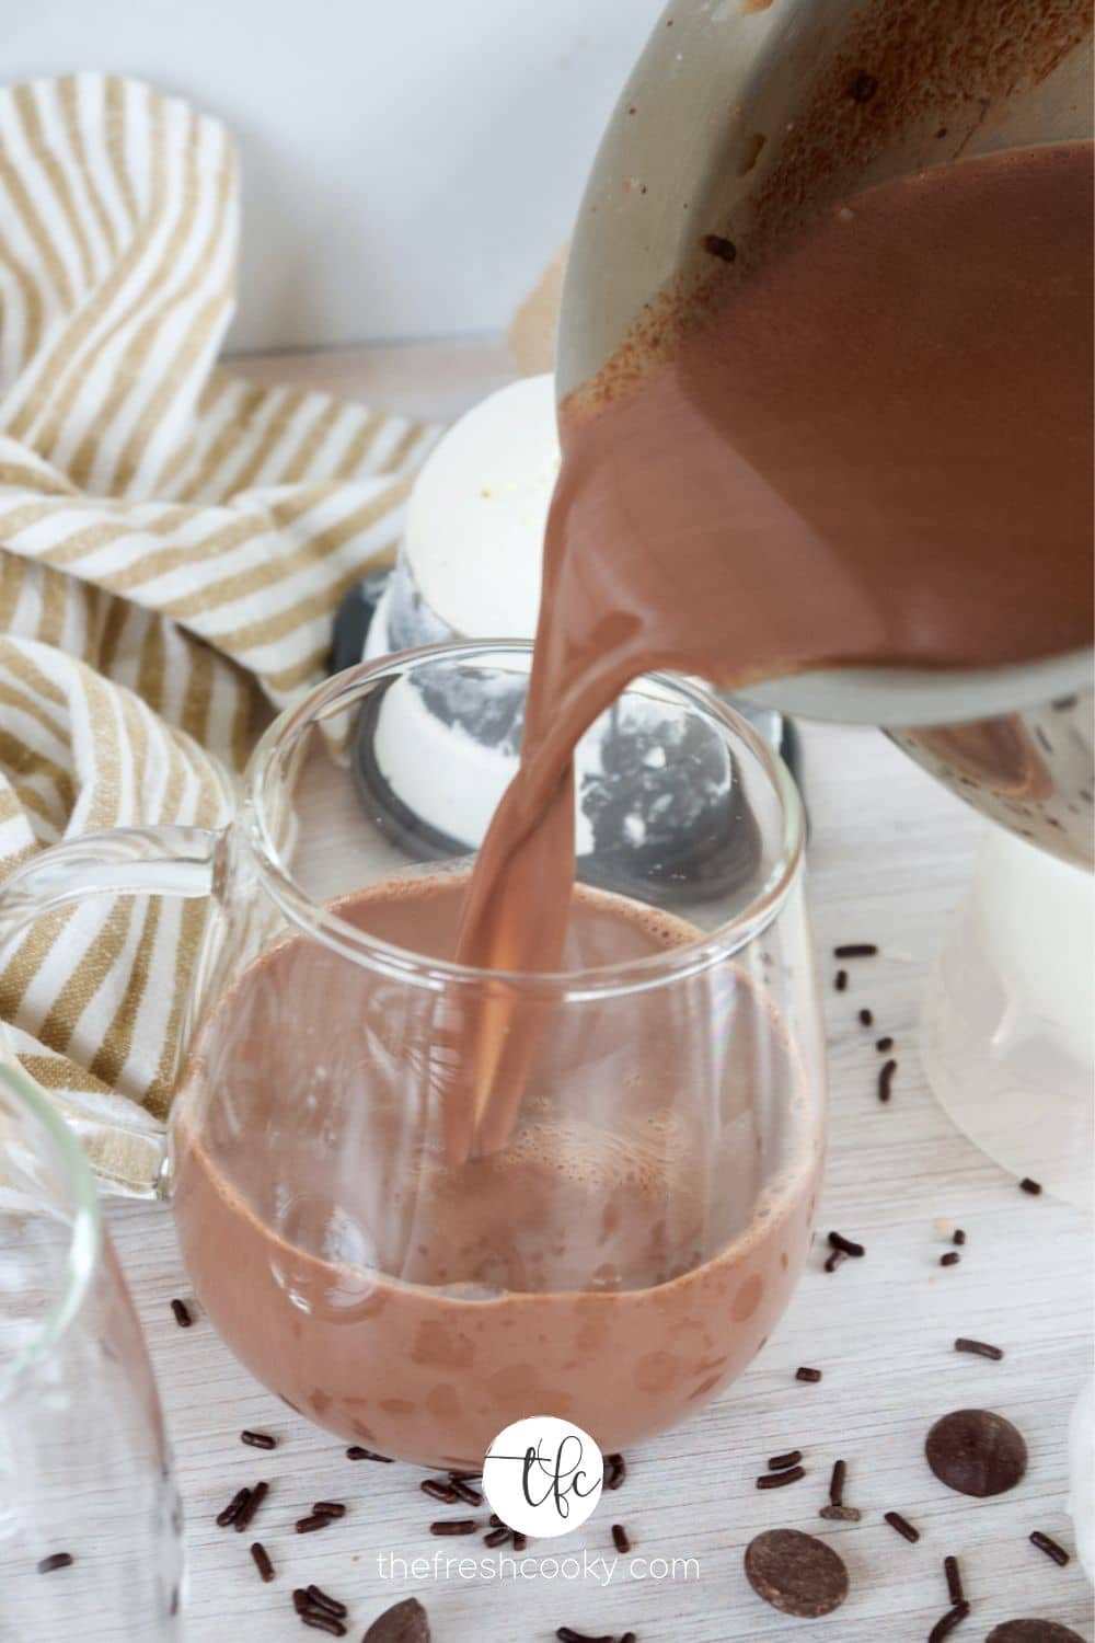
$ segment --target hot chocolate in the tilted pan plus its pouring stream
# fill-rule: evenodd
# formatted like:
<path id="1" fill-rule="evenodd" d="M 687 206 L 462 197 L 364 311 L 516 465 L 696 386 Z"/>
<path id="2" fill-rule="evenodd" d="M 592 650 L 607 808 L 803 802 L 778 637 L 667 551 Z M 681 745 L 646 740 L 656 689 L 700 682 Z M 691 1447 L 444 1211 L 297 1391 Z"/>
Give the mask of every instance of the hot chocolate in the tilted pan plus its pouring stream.
<path id="1" fill-rule="evenodd" d="M 458 958 L 558 968 L 571 752 L 637 674 L 962 669 L 1090 642 L 1092 150 L 850 197 L 724 291 L 675 358 L 561 414 L 522 762 Z M 456 1153 L 497 1147 L 532 1029 L 463 1029 Z"/>

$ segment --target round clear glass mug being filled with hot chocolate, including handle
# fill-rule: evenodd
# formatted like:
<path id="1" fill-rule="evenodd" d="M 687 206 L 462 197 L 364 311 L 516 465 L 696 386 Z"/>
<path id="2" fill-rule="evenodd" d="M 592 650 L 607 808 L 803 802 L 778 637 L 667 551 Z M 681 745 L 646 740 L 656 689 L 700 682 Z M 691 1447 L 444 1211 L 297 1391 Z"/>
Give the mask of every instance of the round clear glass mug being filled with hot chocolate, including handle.
<path id="1" fill-rule="evenodd" d="M 225 833 L 74 840 L 0 895 L 212 897 L 161 1181 L 194 1288 L 292 1408 L 433 1467 L 522 1416 L 614 1451 L 716 1397 L 790 1300 L 824 1150 L 801 803 L 703 688 L 639 680 L 580 744 L 566 971 L 453 961 L 529 660 L 350 669 L 268 729 Z M 491 1007 L 529 1055 L 460 1162 Z"/>

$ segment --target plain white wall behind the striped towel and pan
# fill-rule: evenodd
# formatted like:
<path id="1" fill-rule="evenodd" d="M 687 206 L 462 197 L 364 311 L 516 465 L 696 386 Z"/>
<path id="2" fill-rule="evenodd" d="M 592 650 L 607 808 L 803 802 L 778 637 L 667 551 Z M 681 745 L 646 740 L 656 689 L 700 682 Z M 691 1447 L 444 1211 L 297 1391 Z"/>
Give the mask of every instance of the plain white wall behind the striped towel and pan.
<path id="1" fill-rule="evenodd" d="M 8 82 L 115 69 L 243 154 L 236 348 L 496 330 L 662 0 L 0 0 Z"/>

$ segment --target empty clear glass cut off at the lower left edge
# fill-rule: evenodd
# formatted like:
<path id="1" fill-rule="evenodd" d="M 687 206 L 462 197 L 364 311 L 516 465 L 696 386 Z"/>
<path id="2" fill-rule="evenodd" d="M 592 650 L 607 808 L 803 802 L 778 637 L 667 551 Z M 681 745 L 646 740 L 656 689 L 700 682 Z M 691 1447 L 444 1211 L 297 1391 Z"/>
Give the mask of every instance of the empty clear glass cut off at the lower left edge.
<path id="1" fill-rule="evenodd" d="M 74 1135 L 0 1056 L 0 1643 L 169 1643 L 182 1516 L 141 1331 Z"/>

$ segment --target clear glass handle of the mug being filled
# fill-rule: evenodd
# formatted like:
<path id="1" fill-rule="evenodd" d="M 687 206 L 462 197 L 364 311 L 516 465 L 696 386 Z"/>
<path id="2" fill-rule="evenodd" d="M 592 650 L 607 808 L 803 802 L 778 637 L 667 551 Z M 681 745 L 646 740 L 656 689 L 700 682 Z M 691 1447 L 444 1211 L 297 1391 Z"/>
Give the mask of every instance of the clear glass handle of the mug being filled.
<path id="1" fill-rule="evenodd" d="M 125 826 L 51 845 L 0 884 L 0 950 L 36 918 L 87 895 L 212 895 L 223 840 L 222 831 L 202 826 Z M 0 1053 L 11 1058 L 10 1048 Z M 100 1181 L 131 1198 L 163 1193 L 167 1139 L 161 1124 L 136 1104 L 130 1121 L 105 1114 L 79 1091 L 51 1089 L 49 1098 Z"/>

